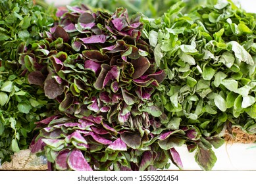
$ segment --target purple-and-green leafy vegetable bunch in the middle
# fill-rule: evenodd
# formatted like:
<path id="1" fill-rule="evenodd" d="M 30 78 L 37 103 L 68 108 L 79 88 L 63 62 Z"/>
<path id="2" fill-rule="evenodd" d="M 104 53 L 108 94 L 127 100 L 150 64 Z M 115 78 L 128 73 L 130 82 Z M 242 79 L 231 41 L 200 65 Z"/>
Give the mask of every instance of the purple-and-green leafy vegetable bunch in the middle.
<path id="1" fill-rule="evenodd" d="M 166 73 L 140 37 L 140 14 L 67 8 L 19 60 L 63 113 L 38 122 L 32 151 L 45 153 L 53 170 L 153 170 L 169 158 L 182 168 L 174 146 L 197 131 L 158 129 L 166 116 L 151 97 Z M 174 143 L 166 146 L 168 137 Z"/>

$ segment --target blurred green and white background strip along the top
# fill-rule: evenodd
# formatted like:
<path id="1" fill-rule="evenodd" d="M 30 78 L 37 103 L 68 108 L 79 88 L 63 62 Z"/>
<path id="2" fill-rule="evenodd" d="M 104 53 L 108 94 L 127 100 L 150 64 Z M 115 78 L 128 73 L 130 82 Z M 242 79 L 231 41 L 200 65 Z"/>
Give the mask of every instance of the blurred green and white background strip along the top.
<path id="1" fill-rule="evenodd" d="M 157 17 L 161 16 L 163 12 L 166 12 L 170 5 L 173 5 L 178 0 L 45 0 L 49 4 L 55 6 L 63 5 L 79 5 L 84 3 L 91 7 L 107 9 L 109 11 L 115 11 L 115 7 L 125 7 L 130 11 L 130 14 L 134 12 L 143 12 L 146 16 Z M 184 12 L 192 9 L 196 5 L 203 5 L 207 0 L 184 0 L 187 5 Z M 213 2 L 215 0 L 208 0 Z M 233 2 L 238 6 L 245 9 L 247 12 L 255 12 L 255 0 L 233 0 Z"/>

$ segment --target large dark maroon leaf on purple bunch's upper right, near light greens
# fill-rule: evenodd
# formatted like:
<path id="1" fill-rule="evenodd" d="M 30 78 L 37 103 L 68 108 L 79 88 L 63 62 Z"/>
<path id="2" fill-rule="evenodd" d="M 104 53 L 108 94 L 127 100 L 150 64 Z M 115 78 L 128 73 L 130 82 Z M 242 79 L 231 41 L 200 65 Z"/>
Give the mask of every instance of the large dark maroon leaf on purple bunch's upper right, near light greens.
<path id="1" fill-rule="evenodd" d="M 132 74 L 132 78 L 137 79 L 142 76 L 147 69 L 149 69 L 150 62 L 146 57 L 140 57 L 138 59 L 132 59 L 132 65 L 134 66 L 134 73 Z"/>

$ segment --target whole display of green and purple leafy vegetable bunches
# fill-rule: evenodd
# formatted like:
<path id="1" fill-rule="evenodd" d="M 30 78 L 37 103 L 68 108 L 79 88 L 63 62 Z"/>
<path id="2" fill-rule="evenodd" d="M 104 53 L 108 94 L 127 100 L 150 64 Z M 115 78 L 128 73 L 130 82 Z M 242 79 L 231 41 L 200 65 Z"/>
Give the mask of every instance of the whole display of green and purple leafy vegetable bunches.
<path id="1" fill-rule="evenodd" d="M 161 3 L 3 1 L 1 161 L 29 147 L 49 170 L 182 170 L 186 145 L 211 170 L 226 129 L 256 133 L 256 14 Z"/>

